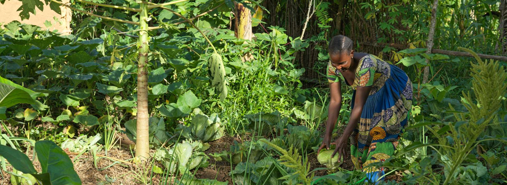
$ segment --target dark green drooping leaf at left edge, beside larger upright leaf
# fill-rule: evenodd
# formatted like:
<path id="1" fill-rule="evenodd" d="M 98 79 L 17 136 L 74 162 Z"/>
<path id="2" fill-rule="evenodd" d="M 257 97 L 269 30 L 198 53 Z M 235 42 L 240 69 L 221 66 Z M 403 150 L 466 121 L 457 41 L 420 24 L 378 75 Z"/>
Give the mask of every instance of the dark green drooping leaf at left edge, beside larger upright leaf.
<path id="1" fill-rule="evenodd" d="M 0 156 L 7 159 L 12 167 L 18 171 L 23 173 L 37 173 L 28 156 L 16 149 L 0 145 Z"/>

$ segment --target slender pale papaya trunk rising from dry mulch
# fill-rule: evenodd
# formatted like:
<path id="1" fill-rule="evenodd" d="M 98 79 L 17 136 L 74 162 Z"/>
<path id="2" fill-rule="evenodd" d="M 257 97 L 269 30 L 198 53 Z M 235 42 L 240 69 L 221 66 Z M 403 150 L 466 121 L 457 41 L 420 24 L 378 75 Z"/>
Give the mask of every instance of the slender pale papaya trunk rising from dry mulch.
<path id="1" fill-rule="evenodd" d="M 140 5 L 139 24 L 139 63 L 137 64 L 137 135 L 135 156 L 144 160 L 150 157 L 149 143 L 149 113 L 148 113 L 148 74 L 146 63 L 148 62 L 148 9 L 146 4 Z M 144 159 L 142 159 L 144 158 Z"/>

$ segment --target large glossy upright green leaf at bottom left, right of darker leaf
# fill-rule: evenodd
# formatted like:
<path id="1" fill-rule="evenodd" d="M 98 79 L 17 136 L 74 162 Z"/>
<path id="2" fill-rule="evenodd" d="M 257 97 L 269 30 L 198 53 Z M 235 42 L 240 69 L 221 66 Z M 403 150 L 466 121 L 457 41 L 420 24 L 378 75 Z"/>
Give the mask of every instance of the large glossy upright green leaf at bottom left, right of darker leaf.
<path id="1" fill-rule="evenodd" d="M 49 140 L 35 142 L 35 152 L 41 163 L 42 173 L 49 173 L 51 184 L 81 185 L 81 179 L 74 170 L 74 164 L 67 154 Z"/>

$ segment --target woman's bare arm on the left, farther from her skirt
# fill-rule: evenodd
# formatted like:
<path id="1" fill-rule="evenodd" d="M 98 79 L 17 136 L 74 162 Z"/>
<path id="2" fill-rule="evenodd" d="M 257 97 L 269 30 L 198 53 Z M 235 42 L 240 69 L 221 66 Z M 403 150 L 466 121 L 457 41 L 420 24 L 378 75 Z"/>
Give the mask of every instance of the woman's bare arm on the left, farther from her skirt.
<path id="1" fill-rule="evenodd" d="M 342 107 L 342 90 L 340 81 L 330 83 L 329 88 L 331 93 L 331 102 L 329 103 L 328 109 L 328 123 L 325 127 L 324 140 L 322 141 L 322 145 L 318 149 L 317 154 L 324 147 L 329 150 L 333 128 L 335 128 L 336 120 L 338 119 L 340 109 Z"/>

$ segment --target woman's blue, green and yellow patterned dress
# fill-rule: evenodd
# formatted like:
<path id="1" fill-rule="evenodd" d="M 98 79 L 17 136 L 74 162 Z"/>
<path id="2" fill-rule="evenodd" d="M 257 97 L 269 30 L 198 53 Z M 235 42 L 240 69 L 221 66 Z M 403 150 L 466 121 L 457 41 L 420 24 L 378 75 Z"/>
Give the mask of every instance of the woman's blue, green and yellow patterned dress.
<path id="1" fill-rule="evenodd" d="M 327 77 L 329 82 L 347 84 L 331 62 Z M 412 82 L 400 68 L 377 56 L 367 55 L 359 60 L 353 84 L 347 85 L 353 89 L 351 109 L 357 86 L 372 86 L 359 122 L 350 135 L 350 154 L 355 168 L 366 171 L 369 180 L 376 181 L 384 174 L 384 169 L 367 165 L 393 155 L 412 109 Z"/>

